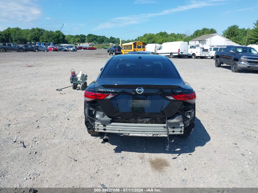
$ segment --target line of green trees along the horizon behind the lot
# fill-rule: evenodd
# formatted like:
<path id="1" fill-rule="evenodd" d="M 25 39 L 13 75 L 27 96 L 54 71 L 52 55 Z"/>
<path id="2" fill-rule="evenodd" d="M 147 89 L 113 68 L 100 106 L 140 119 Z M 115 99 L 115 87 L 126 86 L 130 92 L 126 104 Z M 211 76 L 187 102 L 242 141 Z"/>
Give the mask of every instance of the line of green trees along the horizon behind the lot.
<path id="1" fill-rule="evenodd" d="M 189 31 L 185 31 L 183 34 L 175 34 L 167 32 L 159 32 L 157 34 L 144 34 L 132 40 L 122 40 L 122 43 L 131 41 L 143 41 L 146 44 L 157 43 L 162 44 L 169 41 L 187 41 L 197 38 L 205 34 L 213 34 L 217 31 L 213 28 L 202 28 L 201 30 L 195 30 L 193 34 Z M 258 44 L 258 20 L 254 23 L 252 29 L 239 28 L 238 25 L 229 26 L 223 31 L 223 36 L 238 43 L 239 45 L 245 45 L 246 36 L 247 44 Z M 114 43 L 119 44 L 119 38 L 99 36 L 94 34 L 80 34 L 80 35 L 64 35 L 59 30 L 44 30 L 42 28 L 31 28 L 31 29 L 21 29 L 19 27 L 10 28 L 0 31 L 0 42 L 10 42 L 16 44 L 25 44 L 27 42 L 53 42 L 54 44 L 77 44 L 84 42 L 93 43 Z"/>

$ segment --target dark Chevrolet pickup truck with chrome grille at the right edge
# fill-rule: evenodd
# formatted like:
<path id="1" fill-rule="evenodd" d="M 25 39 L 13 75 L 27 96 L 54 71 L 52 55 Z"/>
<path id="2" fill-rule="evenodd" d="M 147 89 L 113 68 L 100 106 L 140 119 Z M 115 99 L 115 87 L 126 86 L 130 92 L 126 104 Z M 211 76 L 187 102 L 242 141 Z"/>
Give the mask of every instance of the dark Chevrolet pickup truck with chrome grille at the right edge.
<path id="1" fill-rule="evenodd" d="M 227 46 L 224 51 L 216 51 L 215 66 L 231 65 L 232 72 L 243 70 L 258 70 L 258 53 L 252 47 Z"/>

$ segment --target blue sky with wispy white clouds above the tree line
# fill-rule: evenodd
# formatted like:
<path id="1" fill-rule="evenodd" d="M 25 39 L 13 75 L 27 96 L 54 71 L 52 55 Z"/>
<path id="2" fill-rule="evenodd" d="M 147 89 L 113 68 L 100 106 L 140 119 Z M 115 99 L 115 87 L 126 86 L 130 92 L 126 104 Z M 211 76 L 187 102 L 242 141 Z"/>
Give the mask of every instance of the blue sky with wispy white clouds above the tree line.
<path id="1" fill-rule="evenodd" d="M 190 33 L 203 27 L 219 34 L 230 25 L 253 28 L 257 0 L 0 0 L 0 30 L 40 27 L 64 34 L 134 39 L 145 33 Z"/>

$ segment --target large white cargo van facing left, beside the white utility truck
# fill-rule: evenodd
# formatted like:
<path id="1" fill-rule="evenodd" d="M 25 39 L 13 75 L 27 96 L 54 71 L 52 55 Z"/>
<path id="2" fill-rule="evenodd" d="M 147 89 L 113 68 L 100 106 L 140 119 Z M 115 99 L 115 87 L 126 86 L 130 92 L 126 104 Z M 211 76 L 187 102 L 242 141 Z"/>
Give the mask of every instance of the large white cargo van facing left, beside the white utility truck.
<path id="1" fill-rule="evenodd" d="M 170 58 L 187 56 L 188 43 L 186 41 L 165 42 L 158 48 L 157 54 L 170 56 Z"/>

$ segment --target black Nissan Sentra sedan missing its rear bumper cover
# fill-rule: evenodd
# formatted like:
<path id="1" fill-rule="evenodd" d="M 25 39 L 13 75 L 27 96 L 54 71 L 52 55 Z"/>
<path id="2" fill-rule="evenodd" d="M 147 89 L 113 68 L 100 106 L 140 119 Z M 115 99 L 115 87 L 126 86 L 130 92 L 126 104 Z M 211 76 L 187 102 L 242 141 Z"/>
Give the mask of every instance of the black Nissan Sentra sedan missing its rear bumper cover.
<path id="1" fill-rule="evenodd" d="M 196 95 L 162 55 L 111 57 L 84 93 L 91 135 L 187 137 L 194 129 Z M 104 137 L 105 140 L 105 137 Z"/>

